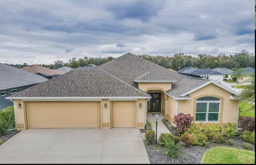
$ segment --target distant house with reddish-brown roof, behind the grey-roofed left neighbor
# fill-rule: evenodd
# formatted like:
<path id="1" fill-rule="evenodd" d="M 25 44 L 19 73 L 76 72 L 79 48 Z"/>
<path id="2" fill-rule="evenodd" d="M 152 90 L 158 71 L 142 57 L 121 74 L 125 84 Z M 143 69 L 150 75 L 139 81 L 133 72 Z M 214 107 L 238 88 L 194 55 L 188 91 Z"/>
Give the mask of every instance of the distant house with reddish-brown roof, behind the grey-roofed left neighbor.
<path id="1" fill-rule="evenodd" d="M 24 68 L 21 68 L 21 70 L 40 75 L 47 79 L 52 79 L 54 77 L 58 77 L 59 75 L 66 73 L 60 69 L 48 69 L 40 65 L 29 65 Z"/>

